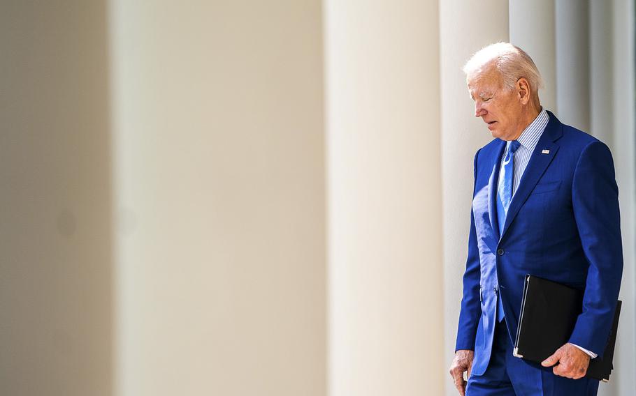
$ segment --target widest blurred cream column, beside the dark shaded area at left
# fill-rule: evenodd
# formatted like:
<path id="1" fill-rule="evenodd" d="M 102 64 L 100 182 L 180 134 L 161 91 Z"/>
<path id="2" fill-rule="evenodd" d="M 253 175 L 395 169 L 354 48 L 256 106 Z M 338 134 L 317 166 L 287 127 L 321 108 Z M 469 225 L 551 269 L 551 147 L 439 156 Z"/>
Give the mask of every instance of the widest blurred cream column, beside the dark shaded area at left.
<path id="1" fill-rule="evenodd" d="M 111 7 L 117 395 L 324 396 L 321 2 Z"/>

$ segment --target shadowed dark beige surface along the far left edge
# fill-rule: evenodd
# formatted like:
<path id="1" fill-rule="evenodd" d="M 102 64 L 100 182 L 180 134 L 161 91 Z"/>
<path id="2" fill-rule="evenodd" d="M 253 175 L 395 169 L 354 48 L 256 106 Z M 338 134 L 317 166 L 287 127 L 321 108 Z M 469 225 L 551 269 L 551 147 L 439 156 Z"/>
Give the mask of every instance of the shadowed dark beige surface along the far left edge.
<path id="1" fill-rule="evenodd" d="M 106 4 L 3 1 L 0 394 L 111 394 Z"/>

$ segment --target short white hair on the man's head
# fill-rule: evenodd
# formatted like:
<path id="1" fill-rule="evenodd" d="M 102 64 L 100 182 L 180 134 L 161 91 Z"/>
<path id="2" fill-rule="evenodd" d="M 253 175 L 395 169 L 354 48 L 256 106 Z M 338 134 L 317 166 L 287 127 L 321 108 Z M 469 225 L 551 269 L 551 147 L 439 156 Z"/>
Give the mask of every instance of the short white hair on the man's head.
<path id="1" fill-rule="evenodd" d="M 507 89 L 513 89 L 521 77 L 528 80 L 530 91 L 543 88 L 543 78 L 535 62 L 525 51 L 510 43 L 494 43 L 475 52 L 463 67 L 466 76 L 476 75 L 495 66 Z"/>

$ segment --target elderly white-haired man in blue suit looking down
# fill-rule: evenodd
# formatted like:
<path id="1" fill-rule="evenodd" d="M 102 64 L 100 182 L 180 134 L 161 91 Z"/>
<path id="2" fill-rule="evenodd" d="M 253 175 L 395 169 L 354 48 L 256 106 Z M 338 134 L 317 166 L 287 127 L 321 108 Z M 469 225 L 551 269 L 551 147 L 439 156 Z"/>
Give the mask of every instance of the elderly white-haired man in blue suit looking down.
<path id="1" fill-rule="evenodd" d="M 475 154 L 451 376 L 468 396 L 596 395 L 585 374 L 605 349 L 623 271 L 612 155 L 541 107 L 540 73 L 519 47 L 489 45 L 464 72 L 495 139 Z M 569 342 L 541 365 L 512 356 L 528 273 L 584 289 Z"/>

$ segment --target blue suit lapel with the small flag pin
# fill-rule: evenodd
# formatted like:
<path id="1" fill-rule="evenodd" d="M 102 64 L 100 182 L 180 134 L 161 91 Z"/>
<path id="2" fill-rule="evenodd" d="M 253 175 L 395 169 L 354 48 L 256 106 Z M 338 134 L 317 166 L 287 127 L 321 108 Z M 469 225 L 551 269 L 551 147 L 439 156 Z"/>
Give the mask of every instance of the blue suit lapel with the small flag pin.
<path id="1" fill-rule="evenodd" d="M 510 201 L 510 206 L 506 215 L 506 222 L 501 236 L 506 234 L 510 223 L 512 223 L 516 214 L 519 213 L 519 209 L 523 206 L 523 203 L 526 202 L 528 195 L 530 195 L 530 192 L 532 192 L 535 188 L 535 185 L 537 185 L 537 182 L 544 174 L 548 165 L 552 162 L 554 155 L 556 155 L 556 152 L 558 151 L 559 146 L 554 142 L 563 135 L 561 122 L 559 122 L 551 112 L 548 112 L 548 114 L 550 116 L 550 121 L 541 135 L 539 142 L 537 142 L 535 151 L 533 151 L 532 156 L 530 157 L 530 162 L 528 162 L 528 166 L 523 172 L 523 176 L 521 176 L 519 188 L 516 192 L 514 192 L 512 201 Z M 544 153 L 544 150 L 549 151 L 549 153 Z M 497 216 L 495 215 L 495 218 L 496 217 Z"/>

